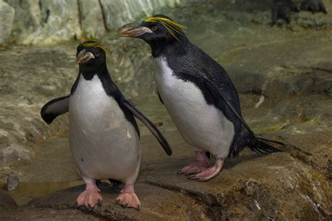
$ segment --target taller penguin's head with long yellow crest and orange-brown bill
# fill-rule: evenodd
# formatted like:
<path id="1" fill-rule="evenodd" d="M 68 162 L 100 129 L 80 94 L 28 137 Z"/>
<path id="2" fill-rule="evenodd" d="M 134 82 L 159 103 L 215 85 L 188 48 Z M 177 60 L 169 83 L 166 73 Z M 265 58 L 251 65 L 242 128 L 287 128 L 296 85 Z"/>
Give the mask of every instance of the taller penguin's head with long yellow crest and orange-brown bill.
<path id="1" fill-rule="evenodd" d="M 185 28 L 166 15 L 153 15 L 141 23 L 125 24 L 118 32 L 118 37 L 141 38 L 153 51 L 162 50 L 188 41 Z"/>

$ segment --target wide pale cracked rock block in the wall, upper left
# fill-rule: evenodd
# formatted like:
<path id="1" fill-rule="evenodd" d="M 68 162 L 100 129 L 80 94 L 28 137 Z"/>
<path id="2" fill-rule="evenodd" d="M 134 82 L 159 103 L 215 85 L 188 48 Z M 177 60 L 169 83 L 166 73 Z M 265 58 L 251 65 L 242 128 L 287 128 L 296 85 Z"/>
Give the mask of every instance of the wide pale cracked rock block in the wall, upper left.
<path id="1" fill-rule="evenodd" d="M 81 37 L 76 1 L 7 0 L 17 11 L 13 37 L 20 44 L 49 44 Z"/>

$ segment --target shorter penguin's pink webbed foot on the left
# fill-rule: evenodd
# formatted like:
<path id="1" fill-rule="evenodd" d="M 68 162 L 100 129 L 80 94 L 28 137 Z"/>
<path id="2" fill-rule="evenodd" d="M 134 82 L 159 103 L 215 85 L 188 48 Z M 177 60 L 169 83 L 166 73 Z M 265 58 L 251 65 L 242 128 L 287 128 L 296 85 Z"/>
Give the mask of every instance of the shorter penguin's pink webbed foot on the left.
<path id="1" fill-rule="evenodd" d="M 96 204 L 101 206 L 102 194 L 100 194 L 100 190 L 95 182 L 87 183 L 84 192 L 77 197 L 75 207 L 85 206 L 89 210 L 92 210 Z"/>

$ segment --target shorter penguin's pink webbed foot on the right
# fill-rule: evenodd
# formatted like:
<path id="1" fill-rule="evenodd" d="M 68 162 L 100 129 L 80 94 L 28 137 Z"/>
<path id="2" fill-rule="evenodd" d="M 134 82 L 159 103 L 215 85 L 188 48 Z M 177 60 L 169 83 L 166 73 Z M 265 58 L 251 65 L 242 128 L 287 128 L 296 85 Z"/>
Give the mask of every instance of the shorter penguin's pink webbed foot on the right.
<path id="1" fill-rule="evenodd" d="M 123 190 L 120 191 L 120 195 L 116 197 L 116 204 L 120 204 L 123 208 L 131 207 L 139 211 L 141 203 L 134 192 L 134 185 L 126 184 L 125 187 L 123 187 Z"/>

